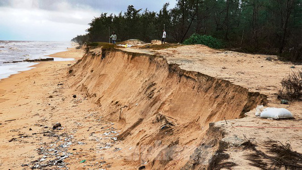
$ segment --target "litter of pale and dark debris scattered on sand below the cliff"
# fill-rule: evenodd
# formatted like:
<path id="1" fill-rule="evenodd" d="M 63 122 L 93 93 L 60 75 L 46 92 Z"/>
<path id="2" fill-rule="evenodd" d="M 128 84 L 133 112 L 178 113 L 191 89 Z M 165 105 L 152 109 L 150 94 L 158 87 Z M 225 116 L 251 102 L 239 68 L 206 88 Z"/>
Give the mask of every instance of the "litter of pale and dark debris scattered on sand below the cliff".
<path id="1" fill-rule="evenodd" d="M 40 142 L 39 147 L 36 149 L 39 156 L 32 157 L 34 160 L 32 159 L 20 166 L 29 167 L 32 170 L 68 169 L 68 165 L 71 164 L 70 161 L 76 159 L 78 163 L 82 164 L 81 167 L 110 168 L 111 164 L 106 162 L 104 157 L 91 160 L 87 159 L 87 157 L 82 157 L 82 155 L 87 154 L 87 151 L 93 154 L 121 151 L 122 148 L 116 146 L 118 144 L 117 135 L 119 135 L 120 131 L 113 127 L 114 123 L 103 121 L 98 113 L 90 113 L 84 117 L 85 120 L 89 118 L 94 119 L 94 122 L 101 127 L 94 129 L 91 124 L 86 124 L 89 121 L 75 122 L 78 128 L 73 128 L 71 131 L 66 130 L 59 122 L 52 124 L 52 126 L 40 125 L 43 127 L 43 132 L 33 134 L 42 134 L 40 137 L 47 137 L 51 141 Z M 87 130 L 89 137 L 87 139 L 76 139 L 74 136 L 78 130 L 87 127 L 86 125 L 90 126 Z M 14 138 L 12 141 L 14 140 L 16 139 Z"/>

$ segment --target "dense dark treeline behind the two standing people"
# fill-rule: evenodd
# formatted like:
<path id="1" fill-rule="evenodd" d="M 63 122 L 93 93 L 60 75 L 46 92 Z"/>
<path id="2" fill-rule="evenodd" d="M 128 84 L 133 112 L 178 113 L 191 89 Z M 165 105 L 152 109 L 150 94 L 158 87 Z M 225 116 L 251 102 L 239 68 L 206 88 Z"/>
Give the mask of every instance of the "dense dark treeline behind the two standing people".
<path id="1" fill-rule="evenodd" d="M 302 60 L 302 0 L 178 0 L 168 6 L 159 12 L 130 5 L 117 16 L 102 13 L 89 23 L 87 35 L 74 40 L 108 41 L 110 27 L 117 41 L 151 41 L 161 38 L 165 24 L 169 42 L 197 33 L 223 40 L 225 48 Z"/>

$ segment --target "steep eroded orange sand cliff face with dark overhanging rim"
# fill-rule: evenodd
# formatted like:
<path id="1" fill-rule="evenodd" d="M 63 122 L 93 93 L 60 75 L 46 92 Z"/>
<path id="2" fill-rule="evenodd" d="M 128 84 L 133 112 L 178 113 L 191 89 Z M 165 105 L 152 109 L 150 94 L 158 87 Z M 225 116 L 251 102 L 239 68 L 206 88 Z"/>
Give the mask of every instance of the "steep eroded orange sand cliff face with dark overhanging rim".
<path id="1" fill-rule="evenodd" d="M 210 122 L 240 118 L 266 103 L 264 94 L 182 70 L 160 56 L 94 49 L 71 70 L 72 87 L 122 128 L 119 140 L 134 146 L 120 153 L 124 159 L 153 169 L 184 166 L 209 137 Z"/>

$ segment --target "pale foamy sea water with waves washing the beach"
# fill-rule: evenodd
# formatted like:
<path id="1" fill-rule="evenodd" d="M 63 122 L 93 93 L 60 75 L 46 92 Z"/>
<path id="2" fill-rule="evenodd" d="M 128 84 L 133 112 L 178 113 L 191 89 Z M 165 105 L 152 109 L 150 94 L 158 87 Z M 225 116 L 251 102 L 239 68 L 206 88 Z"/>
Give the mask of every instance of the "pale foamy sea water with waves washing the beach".
<path id="1" fill-rule="evenodd" d="M 0 80 L 13 74 L 27 71 L 35 68 L 37 62 L 17 62 L 3 63 L 12 61 L 21 61 L 25 59 L 47 58 L 57 52 L 66 51 L 72 47 L 71 42 L 62 41 L 8 41 L 0 40 Z M 74 60 L 70 58 L 54 57 L 55 61 Z"/>

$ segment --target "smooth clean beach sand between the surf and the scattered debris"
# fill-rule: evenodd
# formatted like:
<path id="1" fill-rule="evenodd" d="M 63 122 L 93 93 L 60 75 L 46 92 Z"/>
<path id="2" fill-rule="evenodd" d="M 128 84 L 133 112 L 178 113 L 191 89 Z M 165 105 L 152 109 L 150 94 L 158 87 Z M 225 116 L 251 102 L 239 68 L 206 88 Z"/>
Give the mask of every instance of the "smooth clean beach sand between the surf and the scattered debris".
<path id="1" fill-rule="evenodd" d="M 51 57 L 81 58 L 83 50 L 69 48 Z M 35 160 L 38 156 L 41 135 L 36 134 L 46 126 L 65 117 L 52 116 L 49 110 L 58 108 L 52 98 L 49 98 L 57 88 L 68 88 L 62 77 L 68 73 L 68 68 L 74 61 L 40 62 L 35 69 L 12 75 L 0 81 L 0 169 L 22 169 L 22 164 Z M 72 96 L 66 96 L 72 97 Z M 56 109 L 56 110 L 57 110 Z M 31 130 L 29 130 L 31 129 Z M 23 135 L 22 135 L 23 134 Z M 30 138 L 24 137 L 24 134 Z M 13 139 L 11 142 L 9 142 Z M 43 141 L 45 142 L 45 141 Z"/>

